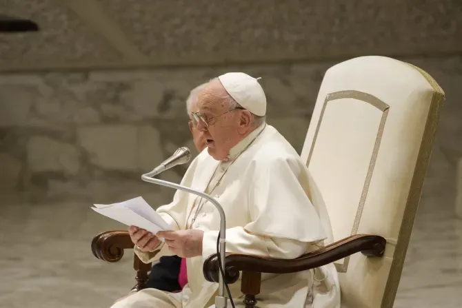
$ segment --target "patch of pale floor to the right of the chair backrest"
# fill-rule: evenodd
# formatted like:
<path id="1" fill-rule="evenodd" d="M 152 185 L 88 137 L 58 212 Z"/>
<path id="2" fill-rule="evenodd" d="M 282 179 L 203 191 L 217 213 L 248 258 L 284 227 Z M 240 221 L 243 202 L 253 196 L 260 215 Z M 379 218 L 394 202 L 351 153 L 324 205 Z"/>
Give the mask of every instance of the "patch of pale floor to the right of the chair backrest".
<path id="1" fill-rule="evenodd" d="M 441 208 L 417 215 L 394 307 L 462 307 L 462 220 Z"/>

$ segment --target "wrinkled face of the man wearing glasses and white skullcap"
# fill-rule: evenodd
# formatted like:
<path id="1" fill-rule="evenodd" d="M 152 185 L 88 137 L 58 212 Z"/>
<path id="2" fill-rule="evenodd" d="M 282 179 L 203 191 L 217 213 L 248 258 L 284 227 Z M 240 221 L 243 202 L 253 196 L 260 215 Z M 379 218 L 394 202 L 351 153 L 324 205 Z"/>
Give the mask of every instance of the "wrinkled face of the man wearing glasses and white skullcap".
<path id="1" fill-rule="evenodd" d="M 217 161 L 228 156 L 251 131 L 252 114 L 248 110 L 230 108 L 227 92 L 219 81 L 211 81 L 197 98 L 194 119 L 197 130 L 203 133 L 208 153 Z"/>

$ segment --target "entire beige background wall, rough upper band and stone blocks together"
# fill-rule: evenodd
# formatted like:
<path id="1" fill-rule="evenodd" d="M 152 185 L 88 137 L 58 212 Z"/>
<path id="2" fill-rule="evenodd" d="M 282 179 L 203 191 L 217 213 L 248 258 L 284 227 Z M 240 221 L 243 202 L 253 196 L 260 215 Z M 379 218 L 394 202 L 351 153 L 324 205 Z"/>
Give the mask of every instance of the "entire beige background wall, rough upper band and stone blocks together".
<path id="1" fill-rule="evenodd" d="M 428 70 L 447 93 L 422 204 L 454 206 L 460 0 L 15 0 L 0 11 L 41 27 L 0 36 L 0 202 L 168 202 L 140 175 L 193 147 L 189 90 L 232 70 L 263 77 L 268 121 L 300 151 L 325 70 L 379 54 Z"/>

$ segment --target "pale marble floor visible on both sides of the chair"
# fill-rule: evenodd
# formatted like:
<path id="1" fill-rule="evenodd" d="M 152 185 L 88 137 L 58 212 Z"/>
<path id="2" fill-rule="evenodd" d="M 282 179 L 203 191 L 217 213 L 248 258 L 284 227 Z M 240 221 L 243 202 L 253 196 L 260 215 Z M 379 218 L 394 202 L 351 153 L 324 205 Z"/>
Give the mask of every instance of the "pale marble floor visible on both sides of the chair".
<path id="1" fill-rule="evenodd" d="M 94 234 L 123 225 L 87 204 L 0 209 L 0 307 L 105 308 L 132 287 L 130 254 L 106 264 L 90 251 Z M 419 211 L 394 307 L 462 307 L 462 220 Z"/>

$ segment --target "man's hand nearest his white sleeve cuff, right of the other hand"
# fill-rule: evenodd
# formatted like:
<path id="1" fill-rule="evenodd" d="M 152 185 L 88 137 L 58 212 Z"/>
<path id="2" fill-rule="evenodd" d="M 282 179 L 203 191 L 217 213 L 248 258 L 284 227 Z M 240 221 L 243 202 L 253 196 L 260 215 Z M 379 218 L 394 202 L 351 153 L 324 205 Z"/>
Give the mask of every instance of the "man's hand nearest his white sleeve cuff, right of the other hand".
<path id="1" fill-rule="evenodd" d="M 202 255 L 202 230 L 159 231 L 157 236 L 165 238 L 168 249 L 181 258 Z"/>

